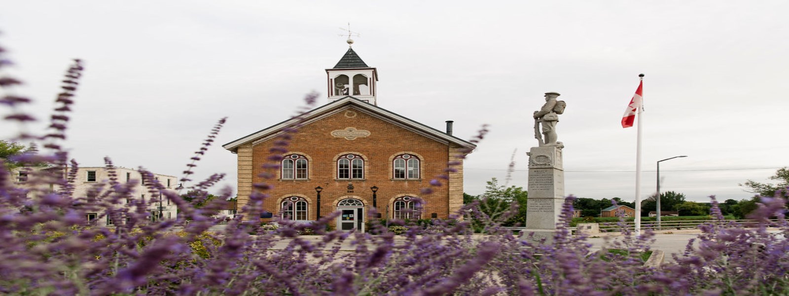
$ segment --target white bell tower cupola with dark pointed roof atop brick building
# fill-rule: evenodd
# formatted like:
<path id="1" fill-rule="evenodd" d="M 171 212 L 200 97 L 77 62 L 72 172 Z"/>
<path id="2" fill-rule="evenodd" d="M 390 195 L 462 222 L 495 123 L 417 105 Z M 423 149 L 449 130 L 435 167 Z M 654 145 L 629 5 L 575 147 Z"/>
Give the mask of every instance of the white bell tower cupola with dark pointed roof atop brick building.
<path id="1" fill-rule="evenodd" d="M 348 39 L 348 51 L 340 58 L 334 68 L 326 69 L 329 102 L 352 96 L 378 106 L 376 102 L 376 81 L 378 72 L 365 64 L 350 47 L 353 40 Z"/>

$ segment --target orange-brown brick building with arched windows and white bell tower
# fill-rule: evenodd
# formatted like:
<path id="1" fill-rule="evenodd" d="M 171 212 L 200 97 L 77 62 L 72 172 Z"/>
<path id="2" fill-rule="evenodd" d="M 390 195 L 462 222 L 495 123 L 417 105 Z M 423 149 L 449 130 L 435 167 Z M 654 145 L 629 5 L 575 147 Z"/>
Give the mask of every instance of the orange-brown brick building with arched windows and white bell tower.
<path id="1" fill-rule="evenodd" d="M 267 191 L 265 212 L 312 221 L 339 211 L 338 229 L 364 230 L 370 208 L 382 218 L 429 219 L 447 218 L 462 207 L 462 163 L 448 182 L 433 187 L 434 193 L 423 196 L 420 189 L 447 174 L 447 162 L 462 160 L 458 155 L 474 144 L 453 137 L 451 122 L 439 131 L 378 107 L 377 70 L 351 48 L 326 72 L 329 103 L 301 114 L 301 126 L 275 172 L 274 189 Z M 271 162 L 267 157 L 276 137 L 296 121 L 222 146 L 237 154 L 239 208 L 249 202 L 252 184 L 264 181 L 258 175 Z"/>

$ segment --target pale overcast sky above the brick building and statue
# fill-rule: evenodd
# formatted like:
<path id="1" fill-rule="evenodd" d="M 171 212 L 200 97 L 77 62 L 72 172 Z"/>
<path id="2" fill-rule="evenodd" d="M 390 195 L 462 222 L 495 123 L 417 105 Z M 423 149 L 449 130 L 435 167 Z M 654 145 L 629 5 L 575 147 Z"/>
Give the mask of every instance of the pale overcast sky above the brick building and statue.
<path id="1" fill-rule="evenodd" d="M 83 167 L 180 176 L 219 118 L 228 122 L 196 177 L 226 173 L 221 144 L 289 118 L 320 92 L 325 69 L 354 51 L 380 74 L 378 104 L 469 138 L 491 132 L 466 162 L 466 193 L 507 178 L 527 185 L 537 145 L 531 114 L 544 92 L 567 110 L 558 125 L 567 194 L 634 200 L 636 128 L 620 119 L 645 73 L 642 197 L 661 187 L 688 200 L 751 197 L 789 166 L 789 2 L 14 1 L 0 44 L 47 118 L 70 58 L 86 71 L 67 146 Z M 6 112 L 6 111 L 0 111 Z M 36 129 L 37 127 L 33 127 Z M 0 135 L 13 134 L 2 123 Z"/>

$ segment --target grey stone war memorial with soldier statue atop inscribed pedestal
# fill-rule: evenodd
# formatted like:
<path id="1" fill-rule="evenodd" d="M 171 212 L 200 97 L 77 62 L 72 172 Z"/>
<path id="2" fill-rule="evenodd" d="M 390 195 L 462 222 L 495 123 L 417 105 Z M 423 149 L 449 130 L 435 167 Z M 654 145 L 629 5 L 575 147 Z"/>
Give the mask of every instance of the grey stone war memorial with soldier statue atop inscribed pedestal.
<path id="1" fill-rule="evenodd" d="M 564 203 L 564 144 L 556 141 L 556 122 L 567 103 L 557 101 L 558 92 L 546 92 L 545 103 L 534 111 L 534 137 L 538 146 L 529 149 L 529 200 L 526 229 L 521 237 L 533 241 L 553 239 Z M 541 130 L 540 130 L 541 128 Z"/>

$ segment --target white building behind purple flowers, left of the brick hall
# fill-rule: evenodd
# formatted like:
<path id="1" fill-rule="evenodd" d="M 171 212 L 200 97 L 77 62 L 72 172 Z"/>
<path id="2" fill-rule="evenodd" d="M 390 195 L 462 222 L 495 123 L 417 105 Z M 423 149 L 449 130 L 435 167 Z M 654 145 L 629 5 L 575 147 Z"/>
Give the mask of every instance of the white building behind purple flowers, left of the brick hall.
<path id="1" fill-rule="evenodd" d="M 51 167 L 20 167 L 12 172 L 12 178 L 14 180 L 14 185 L 18 188 L 30 188 L 31 184 L 36 182 L 32 181 L 30 178 L 36 178 L 36 170 L 50 170 L 53 169 Z M 69 167 L 67 170 L 73 170 L 72 167 Z M 107 189 L 107 185 L 110 180 L 109 171 L 107 167 L 78 167 L 77 169 L 77 178 L 74 180 L 74 189 L 73 189 L 73 197 L 88 197 L 88 191 L 92 189 L 94 186 L 103 185 L 103 189 Z M 124 200 L 125 204 L 131 204 L 133 200 L 144 200 L 145 202 L 155 200 L 152 204 L 149 204 L 147 207 L 147 211 L 150 212 L 150 217 L 152 220 L 155 219 L 175 219 L 177 215 L 177 209 L 174 203 L 172 203 L 169 199 L 167 199 L 164 195 L 161 194 L 151 194 L 148 192 L 148 188 L 145 187 L 144 178 L 142 178 L 142 174 L 139 170 L 133 170 L 125 167 L 115 167 L 115 174 L 117 174 L 118 182 L 121 183 L 128 183 L 134 182 L 135 185 L 131 191 L 131 198 Z M 68 176 L 68 171 L 65 173 Z M 174 193 L 177 192 L 178 186 L 178 178 L 166 174 L 153 174 L 151 180 L 159 181 L 163 186 L 166 187 L 166 190 L 170 190 Z M 49 185 L 50 188 L 44 189 L 45 191 L 53 191 L 52 185 Z M 95 212 L 95 213 L 88 213 L 85 219 L 88 221 L 94 221 L 102 216 L 103 213 Z M 103 223 L 104 225 L 112 225 L 114 221 L 112 221 L 107 215 L 104 215 L 104 221 L 96 221 L 95 223 Z"/>

